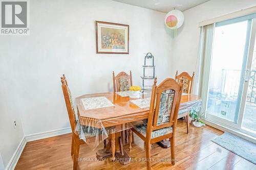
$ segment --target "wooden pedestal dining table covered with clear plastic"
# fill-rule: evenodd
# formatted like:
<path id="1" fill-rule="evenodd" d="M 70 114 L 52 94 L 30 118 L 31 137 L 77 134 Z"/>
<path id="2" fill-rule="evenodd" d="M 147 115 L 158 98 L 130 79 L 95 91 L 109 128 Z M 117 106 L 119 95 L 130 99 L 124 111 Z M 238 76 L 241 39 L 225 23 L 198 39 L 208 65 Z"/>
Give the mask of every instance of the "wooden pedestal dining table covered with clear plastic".
<path id="1" fill-rule="evenodd" d="M 131 161 L 131 157 L 123 149 L 123 132 L 143 124 L 143 120 L 148 118 L 151 92 L 142 93 L 140 99 L 130 98 L 131 93 L 105 92 L 85 94 L 76 98 L 79 117 L 79 126 L 76 129 L 83 130 L 79 133 L 79 138 L 86 141 L 92 149 L 104 142 L 104 148 L 96 151 L 98 159 L 112 156 L 112 160 L 118 160 L 121 164 Z M 199 111 L 201 105 L 200 96 L 182 94 L 179 114 L 192 108 Z"/>

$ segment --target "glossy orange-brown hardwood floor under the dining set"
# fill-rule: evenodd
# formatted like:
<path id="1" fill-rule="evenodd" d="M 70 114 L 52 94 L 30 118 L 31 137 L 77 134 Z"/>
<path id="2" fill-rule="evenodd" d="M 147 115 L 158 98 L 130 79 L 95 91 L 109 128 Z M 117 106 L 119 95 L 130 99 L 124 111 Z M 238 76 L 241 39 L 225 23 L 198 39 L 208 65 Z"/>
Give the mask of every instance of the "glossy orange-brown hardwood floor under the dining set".
<path id="1" fill-rule="evenodd" d="M 178 120 L 176 131 L 175 154 L 178 162 L 172 165 L 170 149 L 163 149 L 158 144 L 152 145 L 152 160 L 154 169 L 256 169 L 256 165 L 235 155 L 210 140 L 223 134 L 222 131 L 210 126 L 196 128 L 190 126 L 186 133 L 186 123 Z M 122 165 L 111 162 L 110 157 L 103 161 L 96 159 L 95 152 L 103 147 L 103 143 L 92 151 L 88 145 L 80 147 L 78 169 L 146 169 L 144 142 L 134 134 L 135 142 L 132 151 L 129 144 L 125 150 L 132 162 Z M 19 158 L 15 169 L 73 169 L 71 157 L 71 134 L 31 141 Z"/>

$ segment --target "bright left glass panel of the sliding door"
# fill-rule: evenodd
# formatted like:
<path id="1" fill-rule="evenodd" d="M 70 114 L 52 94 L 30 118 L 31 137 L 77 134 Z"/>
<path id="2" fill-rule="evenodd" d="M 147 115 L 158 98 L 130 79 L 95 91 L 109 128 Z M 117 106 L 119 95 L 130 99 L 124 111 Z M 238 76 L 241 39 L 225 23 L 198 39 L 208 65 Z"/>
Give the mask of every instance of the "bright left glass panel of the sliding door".
<path id="1" fill-rule="evenodd" d="M 216 25 L 206 112 L 237 124 L 243 90 L 249 20 Z M 245 61 L 245 62 L 244 62 Z"/>

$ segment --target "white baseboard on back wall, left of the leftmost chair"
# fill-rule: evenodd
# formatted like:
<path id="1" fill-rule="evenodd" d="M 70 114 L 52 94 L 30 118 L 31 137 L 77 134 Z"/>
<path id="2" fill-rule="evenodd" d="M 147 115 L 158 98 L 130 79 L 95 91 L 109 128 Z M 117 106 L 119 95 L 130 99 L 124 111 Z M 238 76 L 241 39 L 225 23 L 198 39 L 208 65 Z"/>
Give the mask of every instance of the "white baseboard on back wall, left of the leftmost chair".
<path id="1" fill-rule="evenodd" d="M 25 137 L 26 137 L 27 141 L 34 141 L 34 140 L 44 139 L 44 138 L 48 138 L 48 137 L 63 135 L 63 134 L 67 134 L 67 133 L 71 133 L 70 127 L 47 131 L 47 132 L 34 133 L 31 135 L 26 135 Z"/>

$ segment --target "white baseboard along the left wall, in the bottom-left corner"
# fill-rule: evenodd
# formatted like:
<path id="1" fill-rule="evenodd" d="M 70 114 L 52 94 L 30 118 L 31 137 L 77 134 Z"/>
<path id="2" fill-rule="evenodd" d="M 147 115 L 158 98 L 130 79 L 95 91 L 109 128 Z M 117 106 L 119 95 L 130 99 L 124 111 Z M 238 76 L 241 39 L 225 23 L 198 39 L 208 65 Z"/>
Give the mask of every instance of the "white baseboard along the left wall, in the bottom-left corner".
<path id="1" fill-rule="evenodd" d="M 14 154 L 12 155 L 12 158 L 10 160 L 10 162 L 8 163 L 8 165 L 6 166 L 6 170 L 10 169 L 13 170 L 18 162 L 18 159 L 20 157 L 20 155 L 22 155 L 23 149 L 25 148 L 27 141 L 25 136 L 22 138 L 22 140 L 20 141 L 20 143 L 18 144 L 18 147 L 16 149 L 16 151 L 14 152 Z"/>

